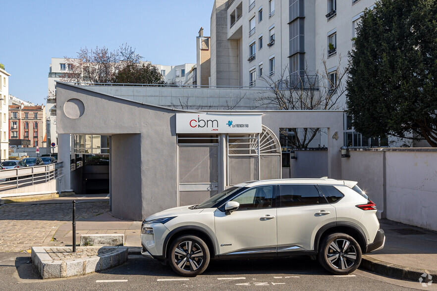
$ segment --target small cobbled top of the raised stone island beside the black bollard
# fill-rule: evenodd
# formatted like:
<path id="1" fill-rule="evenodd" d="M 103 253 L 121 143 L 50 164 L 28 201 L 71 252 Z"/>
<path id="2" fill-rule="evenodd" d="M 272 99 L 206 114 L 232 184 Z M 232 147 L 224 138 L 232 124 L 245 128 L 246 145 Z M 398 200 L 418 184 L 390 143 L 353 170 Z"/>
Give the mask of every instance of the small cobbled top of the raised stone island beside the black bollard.
<path id="1" fill-rule="evenodd" d="M 77 247 L 76 252 L 72 252 L 73 249 L 71 247 L 47 247 L 44 250 L 50 255 L 50 257 L 54 261 L 66 261 L 73 259 L 81 259 L 85 257 L 97 256 L 110 253 L 117 249 L 117 246 L 114 247 L 101 247 L 101 246 L 86 246 L 86 247 Z"/>

